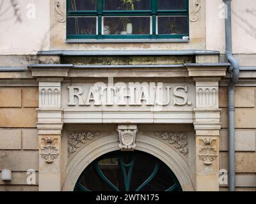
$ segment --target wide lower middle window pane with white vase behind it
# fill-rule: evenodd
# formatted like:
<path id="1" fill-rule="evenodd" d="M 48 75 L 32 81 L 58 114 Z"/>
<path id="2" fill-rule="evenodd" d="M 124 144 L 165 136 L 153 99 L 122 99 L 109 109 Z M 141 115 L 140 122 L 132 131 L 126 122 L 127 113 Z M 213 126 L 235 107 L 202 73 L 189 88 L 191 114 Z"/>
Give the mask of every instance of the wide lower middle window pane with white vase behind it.
<path id="1" fill-rule="evenodd" d="M 104 17 L 104 34 L 150 34 L 150 17 Z"/>

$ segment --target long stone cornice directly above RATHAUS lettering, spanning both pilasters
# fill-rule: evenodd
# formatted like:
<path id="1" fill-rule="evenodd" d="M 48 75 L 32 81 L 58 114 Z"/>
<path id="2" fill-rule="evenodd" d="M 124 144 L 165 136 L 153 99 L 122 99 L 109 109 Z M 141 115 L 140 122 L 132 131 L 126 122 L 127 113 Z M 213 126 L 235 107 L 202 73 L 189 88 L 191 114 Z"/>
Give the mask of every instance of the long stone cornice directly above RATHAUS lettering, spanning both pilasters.
<path id="1" fill-rule="evenodd" d="M 228 63 L 190 63 L 156 65 L 32 64 L 28 68 L 39 82 L 61 82 L 65 77 L 193 77 L 196 81 L 215 81 L 225 77 Z"/>

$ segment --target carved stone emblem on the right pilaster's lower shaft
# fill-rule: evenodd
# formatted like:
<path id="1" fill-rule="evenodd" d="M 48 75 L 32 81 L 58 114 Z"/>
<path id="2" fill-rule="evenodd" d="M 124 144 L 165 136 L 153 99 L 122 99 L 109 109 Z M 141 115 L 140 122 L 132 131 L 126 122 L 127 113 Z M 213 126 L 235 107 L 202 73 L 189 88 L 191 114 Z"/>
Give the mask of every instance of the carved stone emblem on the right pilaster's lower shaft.
<path id="1" fill-rule="evenodd" d="M 204 161 L 205 165 L 211 165 L 212 161 L 218 156 L 217 151 L 214 148 L 216 140 L 212 140 L 212 138 L 204 138 L 199 140 L 199 143 L 200 145 L 204 145 L 204 147 L 201 147 L 199 150 L 199 159 Z"/>

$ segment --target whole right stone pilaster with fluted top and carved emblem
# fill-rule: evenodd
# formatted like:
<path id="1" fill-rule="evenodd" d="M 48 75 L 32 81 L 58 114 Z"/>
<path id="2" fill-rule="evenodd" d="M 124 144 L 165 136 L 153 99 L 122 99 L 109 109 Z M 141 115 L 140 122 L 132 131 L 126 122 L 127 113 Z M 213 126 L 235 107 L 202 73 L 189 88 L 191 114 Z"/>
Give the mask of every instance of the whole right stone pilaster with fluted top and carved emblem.
<path id="1" fill-rule="evenodd" d="M 229 64 L 186 64 L 196 84 L 194 128 L 196 140 L 196 191 L 218 191 L 220 111 L 219 81 Z M 207 185 L 205 185 L 207 184 Z"/>

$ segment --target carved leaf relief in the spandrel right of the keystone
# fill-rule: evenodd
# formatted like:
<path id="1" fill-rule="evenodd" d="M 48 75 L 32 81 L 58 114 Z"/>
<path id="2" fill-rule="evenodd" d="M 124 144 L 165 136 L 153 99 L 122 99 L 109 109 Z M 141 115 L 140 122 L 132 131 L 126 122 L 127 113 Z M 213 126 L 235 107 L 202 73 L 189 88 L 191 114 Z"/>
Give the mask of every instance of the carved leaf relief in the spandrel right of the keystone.
<path id="1" fill-rule="evenodd" d="M 183 154 L 185 157 L 188 157 L 188 136 L 183 133 L 156 133 L 156 136 L 159 136 L 162 140 L 168 140 L 168 142 L 179 150 L 180 154 Z"/>

